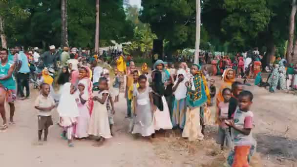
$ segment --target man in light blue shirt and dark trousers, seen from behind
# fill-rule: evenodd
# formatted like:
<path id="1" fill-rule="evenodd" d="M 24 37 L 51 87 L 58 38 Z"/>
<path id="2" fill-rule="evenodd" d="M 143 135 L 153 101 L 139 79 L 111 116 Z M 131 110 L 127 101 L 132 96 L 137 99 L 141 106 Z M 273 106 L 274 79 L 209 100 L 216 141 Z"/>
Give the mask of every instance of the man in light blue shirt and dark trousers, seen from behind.
<path id="1" fill-rule="evenodd" d="M 21 50 L 19 53 L 18 60 L 21 61 L 21 68 L 18 71 L 18 90 L 21 95 L 21 100 L 25 100 L 29 98 L 30 95 L 30 87 L 29 87 L 29 75 L 30 68 L 28 66 L 28 59 L 24 52 Z M 26 96 L 24 96 L 23 89 L 26 88 Z"/>

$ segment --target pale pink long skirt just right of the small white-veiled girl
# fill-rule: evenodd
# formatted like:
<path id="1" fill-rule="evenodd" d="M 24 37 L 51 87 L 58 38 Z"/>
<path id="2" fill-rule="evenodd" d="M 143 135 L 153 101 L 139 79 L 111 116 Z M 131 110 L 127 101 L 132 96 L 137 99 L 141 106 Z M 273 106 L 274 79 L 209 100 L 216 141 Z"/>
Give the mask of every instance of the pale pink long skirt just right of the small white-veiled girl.
<path id="1" fill-rule="evenodd" d="M 77 118 L 77 125 L 75 126 L 75 137 L 76 138 L 85 138 L 89 135 L 87 134 L 90 114 L 86 105 L 79 106 L 80 116 Z"/>

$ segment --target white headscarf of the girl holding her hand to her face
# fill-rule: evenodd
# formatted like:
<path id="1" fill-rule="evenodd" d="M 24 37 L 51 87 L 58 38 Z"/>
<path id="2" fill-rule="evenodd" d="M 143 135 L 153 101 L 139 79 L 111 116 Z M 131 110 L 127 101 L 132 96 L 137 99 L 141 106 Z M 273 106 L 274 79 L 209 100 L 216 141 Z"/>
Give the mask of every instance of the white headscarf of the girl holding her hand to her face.
<path id="1" fill-rule="evenodd" d="M 186 82 L 189 81 L 188 76 L 187 76 L 187 72 L 184 69 L 179 69 L 176 73 L 176 80 L 173 84 L 173 87 L 177 84 L 178 81 L 178 75 L 182 74 L 184 76 L 184 80 L 178 84 L 175 92 L 174 92 L 174 96 L 176 100 L 180 100 L 180 99 L 184 99 L 187 97 L 187 86 L 185 85 Z"/>

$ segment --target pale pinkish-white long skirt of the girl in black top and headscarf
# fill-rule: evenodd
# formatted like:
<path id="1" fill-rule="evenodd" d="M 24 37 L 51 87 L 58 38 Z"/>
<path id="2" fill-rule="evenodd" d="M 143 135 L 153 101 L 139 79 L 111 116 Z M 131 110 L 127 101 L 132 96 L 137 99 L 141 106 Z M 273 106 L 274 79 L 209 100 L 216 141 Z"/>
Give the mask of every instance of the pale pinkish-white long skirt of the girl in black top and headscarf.
<path id="1" fill-rule="evenodd" d="M 153 124 L 155 130 L 160 129 L 172 129 L 172 124 L 170 121 L 170 113 L 165 97 L 162 97 L 163 102 L 163 111 L 160 111 L 158 108 L 153 114 Z"/>

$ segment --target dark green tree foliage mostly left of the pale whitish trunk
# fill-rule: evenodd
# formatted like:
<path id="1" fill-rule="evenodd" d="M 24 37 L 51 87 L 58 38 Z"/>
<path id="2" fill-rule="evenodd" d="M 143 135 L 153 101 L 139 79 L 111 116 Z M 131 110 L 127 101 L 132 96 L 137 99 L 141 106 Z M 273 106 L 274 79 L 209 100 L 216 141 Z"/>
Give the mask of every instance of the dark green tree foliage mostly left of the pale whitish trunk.
<path id="1" fill-rule="evenodd" d="M 195 0 L 142 0 L 140 20 L 151 25 L 159 39 L 169 43 L 164 47 L 176 49 L 195 46 Z M 201 45 L 208 47 L 208 33 L 201 27 Z"/>

